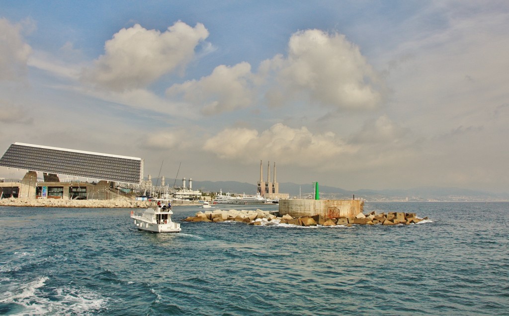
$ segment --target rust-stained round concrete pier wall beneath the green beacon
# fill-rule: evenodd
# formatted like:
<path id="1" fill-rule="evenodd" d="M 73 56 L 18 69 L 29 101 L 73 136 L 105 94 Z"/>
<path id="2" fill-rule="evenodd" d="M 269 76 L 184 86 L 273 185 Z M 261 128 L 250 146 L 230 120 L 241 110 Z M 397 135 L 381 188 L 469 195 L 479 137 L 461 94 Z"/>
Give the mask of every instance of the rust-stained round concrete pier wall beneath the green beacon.
<path id="1" fill-rule="evenodd" d="M 326 218 L 355 217 L 362 213 L 364 201 L 358 199 L 280 199 L 279 215 L 293 217 L 322 215 Z"/>

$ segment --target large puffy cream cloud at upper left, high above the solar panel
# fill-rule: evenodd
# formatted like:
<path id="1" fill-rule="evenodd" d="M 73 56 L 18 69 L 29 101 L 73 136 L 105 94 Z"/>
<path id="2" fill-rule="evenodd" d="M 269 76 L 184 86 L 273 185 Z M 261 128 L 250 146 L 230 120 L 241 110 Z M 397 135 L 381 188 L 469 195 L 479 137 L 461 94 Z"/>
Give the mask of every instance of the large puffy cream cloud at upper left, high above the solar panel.
<path id="1" fill-rule="evenodd" d="M 93 67 L 83 71 L 83 80 L 115 91 L 145 88 L 184 67 L 208 36 L 203 24 L 191 27 L 180 21 L 163 33 L 139 24 L 123 28 L 105 43 L 105 54 Z"/>

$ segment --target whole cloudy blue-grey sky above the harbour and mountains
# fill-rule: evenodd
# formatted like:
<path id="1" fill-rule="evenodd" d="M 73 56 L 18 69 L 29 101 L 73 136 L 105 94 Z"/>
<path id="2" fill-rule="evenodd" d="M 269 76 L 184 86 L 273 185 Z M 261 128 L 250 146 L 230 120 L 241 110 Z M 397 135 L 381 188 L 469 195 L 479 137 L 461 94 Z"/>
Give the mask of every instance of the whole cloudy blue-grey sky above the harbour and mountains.
<path id="1" fill-rule="evenodd" d="M 507 1 L 3 1 L 0 152 L 509 192 L 508 56 Z"/>

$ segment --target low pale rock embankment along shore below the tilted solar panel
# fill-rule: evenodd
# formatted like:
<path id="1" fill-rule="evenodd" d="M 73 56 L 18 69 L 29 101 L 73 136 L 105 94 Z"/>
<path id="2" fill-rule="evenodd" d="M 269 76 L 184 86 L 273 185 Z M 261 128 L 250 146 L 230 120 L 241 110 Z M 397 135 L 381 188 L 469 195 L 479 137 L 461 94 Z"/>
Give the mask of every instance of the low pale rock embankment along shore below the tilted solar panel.
<path id="1" fill-rule="evenodd" d="M 0 206 L 50 207 L 50 208 L 146 208 L 148 201 L 126 199 L 63 199 L 63 198 L 3 198 Z"/>

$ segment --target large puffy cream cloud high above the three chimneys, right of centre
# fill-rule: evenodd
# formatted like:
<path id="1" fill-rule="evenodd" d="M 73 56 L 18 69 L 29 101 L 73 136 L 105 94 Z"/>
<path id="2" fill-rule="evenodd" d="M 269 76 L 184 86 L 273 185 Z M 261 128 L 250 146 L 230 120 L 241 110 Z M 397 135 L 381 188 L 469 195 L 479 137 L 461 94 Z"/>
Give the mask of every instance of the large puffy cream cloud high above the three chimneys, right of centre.
<path id="1" fill-rule="evenodd" d="M 284 91 L 268 96 L 295 99 L 307 95 L 309 101 L 338 109 L 370 109 L 383 101 L 383 84 L 359 48 L 344 35 L 307 30 L 292 35 L 288 56 L 275 56 L 260 67 L 261 73 L 274 72 Z"/>

